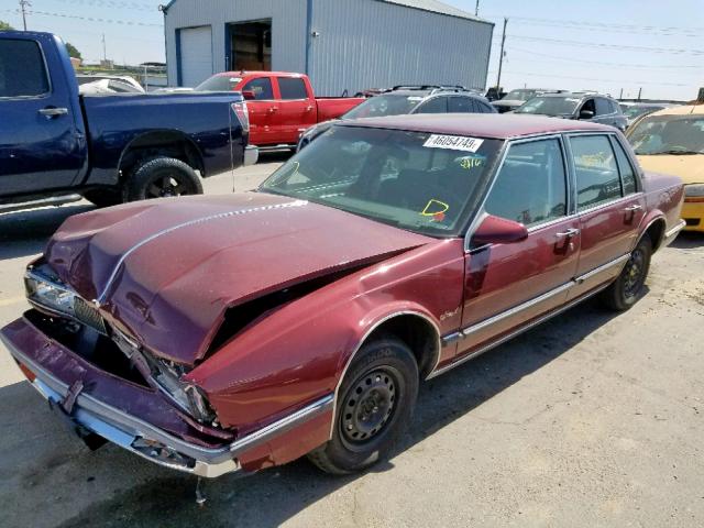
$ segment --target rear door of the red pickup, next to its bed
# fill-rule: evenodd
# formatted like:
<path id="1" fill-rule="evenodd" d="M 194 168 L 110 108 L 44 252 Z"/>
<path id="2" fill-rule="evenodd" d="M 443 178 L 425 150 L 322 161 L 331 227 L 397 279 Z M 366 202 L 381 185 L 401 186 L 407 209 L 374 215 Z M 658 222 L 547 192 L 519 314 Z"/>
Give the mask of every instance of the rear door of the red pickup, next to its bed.
<path id="1" fill-rule="evenodd" d="M 298 143 L 300 133 L 317 122 L 316 100 L 311 99 L 301 77 L 276 77 L 280 143 Z"/>

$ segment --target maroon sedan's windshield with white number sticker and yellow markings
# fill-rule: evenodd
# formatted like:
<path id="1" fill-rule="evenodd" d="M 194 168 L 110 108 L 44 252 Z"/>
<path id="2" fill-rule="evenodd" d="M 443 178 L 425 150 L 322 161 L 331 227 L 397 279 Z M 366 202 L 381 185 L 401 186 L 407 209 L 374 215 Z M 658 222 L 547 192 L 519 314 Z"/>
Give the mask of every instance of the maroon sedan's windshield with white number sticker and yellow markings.
<path id="1" fill-rule="evenodd" d="M 502 142 L 332 127 L 262 184 L 429 235 L 458 235 Z"/>

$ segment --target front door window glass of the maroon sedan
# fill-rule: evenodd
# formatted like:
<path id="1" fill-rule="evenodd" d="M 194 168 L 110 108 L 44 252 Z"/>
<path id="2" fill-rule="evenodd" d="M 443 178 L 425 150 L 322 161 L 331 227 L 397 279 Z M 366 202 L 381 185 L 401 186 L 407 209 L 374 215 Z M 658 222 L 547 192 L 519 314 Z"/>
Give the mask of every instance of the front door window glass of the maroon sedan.
<path id="1" fill-rule="evenodd" d="M 566 172 L 560 141 L 512 145 L 484 209 L 526 227 L 566 215 Z"/>

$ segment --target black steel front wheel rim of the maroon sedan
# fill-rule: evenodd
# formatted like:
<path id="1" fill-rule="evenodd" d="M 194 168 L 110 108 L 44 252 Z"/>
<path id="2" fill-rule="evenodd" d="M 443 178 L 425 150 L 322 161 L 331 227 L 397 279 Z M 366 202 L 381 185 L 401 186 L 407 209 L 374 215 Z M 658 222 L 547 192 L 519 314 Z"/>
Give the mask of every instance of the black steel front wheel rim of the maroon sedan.
<path id="1" fill-rule="evenodd" d="M 398 408 L 399 374 L 391 366 L 374 367 L 350 386 L 340 408 L 340 437 L 360 450 L 388 429 Z"/>

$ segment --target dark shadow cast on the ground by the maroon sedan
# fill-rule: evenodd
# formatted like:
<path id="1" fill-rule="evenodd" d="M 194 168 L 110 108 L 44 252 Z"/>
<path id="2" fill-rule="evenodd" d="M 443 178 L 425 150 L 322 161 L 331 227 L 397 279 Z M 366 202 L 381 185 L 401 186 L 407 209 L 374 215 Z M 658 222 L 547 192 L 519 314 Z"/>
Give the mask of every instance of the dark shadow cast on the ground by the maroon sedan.
<path id="1" fill-rule="evenodd" d="M 570 351 L 613 317 L 613 312 L 602 310 L 595 301 L 587 301 L 565 312 L 559 319 L 547 322 L 477 360 L 424 384 L 416 417 L 397 452 L 411 448 L 519 382 L 524 376 Z M 4 405 L 0 410 L 0 425 L 4 427 L 10 427 L 16 420 L 18 413 L 32 414 L 38 413 L 37 409 L 40 409 L 42 416 L 48 415 L 48 411 L 44 410 L 44 404 L 26 383 L 0 389 L 0 400 L 12 402 L 12 405 Z M 25 410 L 24 406 L 29 410 Z M 50 480 L 53 479 L 51 464 L 46 466 L 42 461 L 55 460 L 57 455 L 52 453 L 73 450 L 68 460 L 64 457 L 63 463 L 75 466 L 72 474 L 75 475 L 78 483 L 76 485 L 81 491 L 85 488 L 86 493 L 90 493 L 90 490 L 101 486 L 99 487 L 101 498 L 96 498 L 95 502 L 89 503 L 90 506 L 77 512 L 75 517 L 61 525 L 64 528 L 84 526 L 152 528 L 155 526 L 185 527 L 196 524 L 208 527 L 233 525 L 274 527 L 356 479 L 353 475 L 346 477 L 326 475 L 304 459 L 245 479 L 224 475 L 216 481 L 207 481 L 205 493 L 208 496 L 208 503 L 200 508 L 195 504 L 195 477 L 156 468 L 139 459 L 133 460 L 134 455 L 116 447 L 103 448 L 96 453 L 89 453 L 73 444 L 69 447 L 70 441 L 63 435 L 54 431 L 46 436 L 46 428 L 52 427 L 47 420 L 48 418 L 23 420 L 23 427 L 31 429 L 24 431 L 26 438 L 40 438 L 43 435 L 45 438 L 41 439 L 41 442 L 34 441 L 15 447 L 19 450 L 32 449 L 33 453 L 13 453 L 14 460 L 25 460 L 30 465 L 33 463 L 35 466 L 13 469 L 9 468 L 6 461 L 0 463 L 0 468 L 25 473 L 19 477 L 15 486 L 23 488 L 28 479 L 33 479 L 33 486 L 36 486 L 37 480 L 46 479 L 51 482 Z M 6 443 L 4 436 L 0 442 Z M 8 446 L 0 446 L 0 453 L 7 449 L 9 449 Z M 75 451 L 76 449 L 78 452 Z M 131 470 L 133 473 L 124 469 L 130 464 L 136 468 Z M 372 471 L 385 472 L 392 471 L 393 468 L 392 458 L 391 462 L 383 463 Z M 94 477 L 92 475 L 102 476 Z M 47 485 L 45 484 L 44 487 Z M 23 516 L 28 516 L 26 512 L 32 512 L 37 501 L 50 502 L 46 505 L 47 512 L 52 510 L 51 502 L 58 501 L 53 496 L 33 496 L 31 492 L 16 496 L 20 497 L 20 502 L 26 501 L 26 504 L 16 504 L 12 509 L 16 508 L 16 512 L 23 513 Z M 6 501 L 8 497 L 0 497 L 0 502 L 6 503 Z M 70 502 L 72 496 L 63 497 L 62 501 Z M 78 499 L 74 497 L 74 502 L 76 501 Z M 64 503 L 62 506 L 68 507 L 69 512 L 78 509 L 77 504 L 72 506 Z M 31 518 L 31 514 L 28 517 Z M 12 515 L 7 520 L 12 520 Z M 42 518 L 41 520 L 42 522 L 38 524 L 43 526 L 53 526 L 51 519 Z"/>

